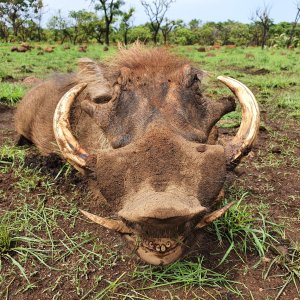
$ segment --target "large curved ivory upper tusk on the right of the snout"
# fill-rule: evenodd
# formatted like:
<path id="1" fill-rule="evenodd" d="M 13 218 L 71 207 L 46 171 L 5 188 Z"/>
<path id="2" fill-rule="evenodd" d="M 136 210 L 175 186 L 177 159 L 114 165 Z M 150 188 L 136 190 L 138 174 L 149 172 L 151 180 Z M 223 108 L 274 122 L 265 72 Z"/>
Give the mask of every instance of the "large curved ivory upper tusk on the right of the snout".
<path id="1" fill-rule="evenodd" d="M 241 82 L 230 77 L 219 76 L 224 83 L 238 98 L 242 108 L 241 126 L 232 139 L 225 146 L 228 164 L 235 166 L 240 159 L 252 148 L 259 131 L 259 107 L 252 92 Z"/>

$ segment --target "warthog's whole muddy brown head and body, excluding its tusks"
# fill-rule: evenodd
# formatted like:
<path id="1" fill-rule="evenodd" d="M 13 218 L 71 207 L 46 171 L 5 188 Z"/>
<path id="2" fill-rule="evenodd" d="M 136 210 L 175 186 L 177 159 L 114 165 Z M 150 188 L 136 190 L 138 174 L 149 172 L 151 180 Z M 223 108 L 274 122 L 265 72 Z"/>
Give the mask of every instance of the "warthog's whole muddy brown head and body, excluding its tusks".
<path id="1" fill-rule="evenodd" d="M 204 98 L 203 73 L 186 61 L 160 50 L 138 55 L 129 51 L 110 72 L 87 60 L 80 64 L 81 76 L 41 84 L 20 104 L 16 128 L 43 154 L 57 151 L 50 127 L 55 107 L 68 88 L 86 81 L 71 120 L 89 152 L 86 175 L 129 229 L 125 236 L 139 256 L 167 264 L 182 256 L 195 226 L 220 200 L 226 157 L 213 128 L 235 104 L 231 97 Z M 100 83 L 90 80 L 91 73 Z M 30 106 L 46 101 L 40 93 L 47 86 L 52 95 L 48 110 L 41 109 L 43 125 L 41 111 L 24 118 Z M 108 141 L 105 151 L 100 135 Z"/>

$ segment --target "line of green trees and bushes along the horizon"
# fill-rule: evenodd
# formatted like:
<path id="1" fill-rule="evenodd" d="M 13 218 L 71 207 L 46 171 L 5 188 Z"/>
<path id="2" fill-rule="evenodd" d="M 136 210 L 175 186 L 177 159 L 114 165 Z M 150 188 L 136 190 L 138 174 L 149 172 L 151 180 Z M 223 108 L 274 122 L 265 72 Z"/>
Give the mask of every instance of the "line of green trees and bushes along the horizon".
<path id="1" fill-rule="evenodd" d="M 63 17 L 58 11 L 48 20 L 46 28 L 43 28 L 42 0 L 0 0 L 0 39 L 4 42 L 97 42 L 107 45 L 110 42 L 127 44 L 136 40 L 144 43 L 179 45 L 300 45 L 297 16 L 293 22 L 275 24 L 269 11 L 265 9 L 261 14 L 258 10 L 257 18 L 253 18 L 250 24 L 232 20 L 202 23 L 197 19 L 184 23 L 182 20 L 165 18 L 165 13 L 174 0 L 154 2 L 161 5 L 157 14 L 151 7 L 153 2 L 141 0 L 149 17 L 149 22 L 143 25 L 133 26 L 134 8 L 122 11 L 124 1 L 94 0 L 91 1 L 94 3 L 94 11 L 70 11 L 68 17 Z"/>

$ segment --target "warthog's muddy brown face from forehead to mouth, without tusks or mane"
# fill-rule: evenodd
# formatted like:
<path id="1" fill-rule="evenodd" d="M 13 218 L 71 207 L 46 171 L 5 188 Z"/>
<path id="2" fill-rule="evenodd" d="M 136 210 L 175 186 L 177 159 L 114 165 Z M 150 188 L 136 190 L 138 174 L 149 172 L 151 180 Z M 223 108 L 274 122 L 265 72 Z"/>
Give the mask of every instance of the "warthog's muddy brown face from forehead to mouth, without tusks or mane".
<path id="1" fill-rule="evenodd" d="M 139 251 L 155 250 L 150 259 L 155 264 L 182 254 L 182 243 L 213 207 L 225 179 L 223 147 L 205 144 L 234 103 L 204 100 L 197 74 L 186 76 L 185 68 L 177 82 L 154 74 L 149 82 L 149 76 L 122 70 L 115 98 L 106 104 L 82 103 L 116 149 L 97 156 L 97 187 L 135 231 L 129 240 L 142 241 Z M 165 247 L 172 243 L 176 253 Z"/>

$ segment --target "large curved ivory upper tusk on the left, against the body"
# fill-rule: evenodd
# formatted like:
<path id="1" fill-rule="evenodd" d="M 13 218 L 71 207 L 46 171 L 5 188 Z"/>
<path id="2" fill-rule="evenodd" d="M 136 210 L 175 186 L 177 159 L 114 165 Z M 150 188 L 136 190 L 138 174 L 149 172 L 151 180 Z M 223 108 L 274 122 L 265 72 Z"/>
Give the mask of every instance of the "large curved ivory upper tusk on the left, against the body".
<path id="1" fill-rule="evenodd" d="M 87 86 L 81 83 L 71 88 L 59 100 L 53 118 L 53 131 L 62 155 L 79 171 L 86 165 L 88 153 L 81 148 L 71 133 L 69 115 L 76 96 Z"/>

